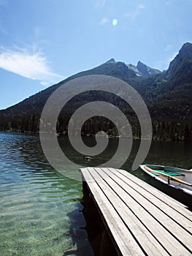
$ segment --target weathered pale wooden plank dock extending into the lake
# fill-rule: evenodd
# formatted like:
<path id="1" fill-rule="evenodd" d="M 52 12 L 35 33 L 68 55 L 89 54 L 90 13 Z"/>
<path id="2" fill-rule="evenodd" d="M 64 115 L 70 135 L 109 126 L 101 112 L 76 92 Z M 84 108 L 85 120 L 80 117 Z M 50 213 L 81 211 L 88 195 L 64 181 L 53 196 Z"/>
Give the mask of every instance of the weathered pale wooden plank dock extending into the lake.
<path id="1" fill-rule="evenodd" d="M 192 255 L 192 212 L 125 170 L 81 168 L 118 255 Z"/>

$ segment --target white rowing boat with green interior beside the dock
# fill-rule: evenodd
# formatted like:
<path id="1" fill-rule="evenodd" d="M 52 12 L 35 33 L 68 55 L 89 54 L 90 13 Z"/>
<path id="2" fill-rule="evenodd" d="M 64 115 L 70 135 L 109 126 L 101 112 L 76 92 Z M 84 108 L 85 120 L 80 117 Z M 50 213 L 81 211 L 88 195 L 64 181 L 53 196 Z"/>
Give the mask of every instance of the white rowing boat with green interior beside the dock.
<path id="1" fill-rule="evenodd" d="M 192 169 L 185 170 L 164 165 L 140 165 L 140 168 L 169 187 L 192 195 Z"/>

